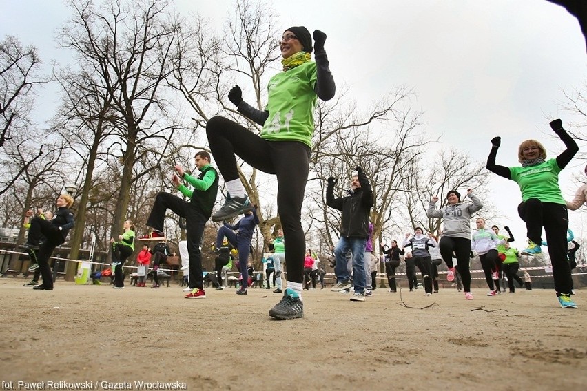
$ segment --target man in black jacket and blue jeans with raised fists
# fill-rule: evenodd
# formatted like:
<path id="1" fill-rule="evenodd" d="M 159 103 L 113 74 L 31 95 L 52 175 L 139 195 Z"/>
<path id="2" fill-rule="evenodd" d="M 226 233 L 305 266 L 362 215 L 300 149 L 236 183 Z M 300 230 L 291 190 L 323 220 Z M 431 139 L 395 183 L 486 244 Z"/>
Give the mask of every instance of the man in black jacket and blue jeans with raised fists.
<path id="1" fill-rule="evenodd" d="M 340 228 L 340 240 L 334 249 L 336 261 L 335 271 L 336 285 L 334 292 L 340 292 L 351 288 L 351 276 L 347 270 L 345 254 L 351 250 L 353 253 L 353 284 L 355 293 L 351 300 L 364 302 L 365 271 L 364 252 L 365 244 L 369 238 L 369 210 L 373 207 L 373 191 L 363 169 L 357 167 L 357 174 L 351 180 L 351 195 L 334 198 L 334 184 L 336 179 L 328 178 L 326 188 L 326 204 L 342 211 L 342 226 Z"/>

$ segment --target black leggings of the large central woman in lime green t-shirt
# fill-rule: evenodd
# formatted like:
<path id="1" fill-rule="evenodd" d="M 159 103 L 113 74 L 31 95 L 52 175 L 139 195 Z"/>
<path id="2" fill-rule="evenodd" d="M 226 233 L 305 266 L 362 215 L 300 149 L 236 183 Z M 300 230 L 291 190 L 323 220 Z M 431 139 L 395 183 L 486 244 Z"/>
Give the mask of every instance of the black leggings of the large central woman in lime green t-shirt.
<path id="1" fill-rule="evenodd" d="M 287 280 L 304 281 L 305 235 L 302 202 L 308 180 L 310 148 L 298 141 L 268 141 L 227 118 L 206 125 L 210 150 L 225 182 L 238 179 L 236 156 L 252 167 L 276 175 L 277 211 L 287 237 Z"/>

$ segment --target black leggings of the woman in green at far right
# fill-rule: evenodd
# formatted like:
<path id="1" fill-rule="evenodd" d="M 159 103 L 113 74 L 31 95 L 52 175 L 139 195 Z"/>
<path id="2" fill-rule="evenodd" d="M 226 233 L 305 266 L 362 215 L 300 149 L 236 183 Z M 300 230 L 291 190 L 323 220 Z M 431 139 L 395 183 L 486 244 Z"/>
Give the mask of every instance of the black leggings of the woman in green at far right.
<path id="1" fill-rule="evenodd" d="M 568 212 L 564 204 L 542 202 L 530 198 L 517 207 L 519 217 L 526 222 L 528 239 L 536 244 L 542 242 L 542 227 L 548 242 L 548 255 L 553 266 L 553 278 L 557 295 L 570 295 L 573 280 L 570 277 L 570 264 L 567 253 L 566 230 L 568 229 Z"/>

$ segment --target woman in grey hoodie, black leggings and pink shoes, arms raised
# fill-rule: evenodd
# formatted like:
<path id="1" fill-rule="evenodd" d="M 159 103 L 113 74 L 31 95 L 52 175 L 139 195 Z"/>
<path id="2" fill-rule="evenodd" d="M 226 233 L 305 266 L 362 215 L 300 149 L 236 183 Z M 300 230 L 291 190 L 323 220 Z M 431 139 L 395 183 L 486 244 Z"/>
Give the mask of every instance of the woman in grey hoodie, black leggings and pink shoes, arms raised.
<path id="1" fill-rule="evenodd" d="M 449 273 L 446 279 L 454 281 L 455 266 L 453 265 L 453 251 L 457 258 L 457 267 L 463 282 L 465 299 L 472 300 L 471 293 L 471 272 L 469 271 L 469 254 L 471 253 L 471 215 L 479 211 L 483 204 L 473 195 L 473 189 L 468 189 L 466 196 L 473 202 L 460 202 L 461 195 L 456 190 L 451 190 L 446 194 L 448 204 L 445 207 L 436 209 L 438 197 L 432 197 L 428 206 L 426 215 L 429 218 L 442 218 L 443 233 L 440 238 L 440 254 Z"/>

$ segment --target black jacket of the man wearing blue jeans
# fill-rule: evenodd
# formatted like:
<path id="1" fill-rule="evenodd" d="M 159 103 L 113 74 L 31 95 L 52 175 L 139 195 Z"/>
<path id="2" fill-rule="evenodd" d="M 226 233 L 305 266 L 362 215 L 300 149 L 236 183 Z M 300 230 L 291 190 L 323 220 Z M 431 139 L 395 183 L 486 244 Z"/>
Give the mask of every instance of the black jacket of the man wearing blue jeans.
<path id="1" fill-rule="evenodd" d="M 326 204 L 342 211 L 340 236 L 367 238 L 369 237 L 369 210 L 373 207 L 373 190 L 362 171 L 357 176 L 361 187 L 347 197 L 334 198 L 334 184 L 329 183 L 326 188 Z"/>

